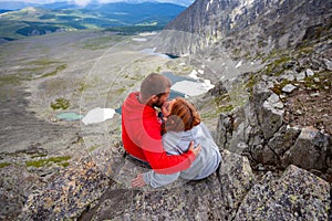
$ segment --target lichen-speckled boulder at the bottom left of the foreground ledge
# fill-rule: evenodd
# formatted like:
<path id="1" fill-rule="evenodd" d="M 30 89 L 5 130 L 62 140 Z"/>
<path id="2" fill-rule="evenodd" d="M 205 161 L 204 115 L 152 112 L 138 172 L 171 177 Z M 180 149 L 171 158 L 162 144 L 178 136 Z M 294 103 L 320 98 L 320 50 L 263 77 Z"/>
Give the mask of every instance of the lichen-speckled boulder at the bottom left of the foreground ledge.
<path id="1" fill-rule="evenodd" d="M 104 193 L 110 180 L 94 162 L 68 168 L 48 187 L 34 191 L 19 215 L 19 220 L 69 220 L 81 215 Z"/>

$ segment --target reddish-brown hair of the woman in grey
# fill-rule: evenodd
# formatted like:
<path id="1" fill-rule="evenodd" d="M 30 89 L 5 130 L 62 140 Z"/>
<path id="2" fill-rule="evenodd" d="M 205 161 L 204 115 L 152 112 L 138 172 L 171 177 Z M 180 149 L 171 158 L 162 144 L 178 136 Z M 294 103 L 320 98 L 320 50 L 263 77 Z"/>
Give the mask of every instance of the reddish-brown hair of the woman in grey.
<path id="1" fill-rule="evenodd" d="M 163 133 L 187 131 L 200 124 L 200 117 L 193 104 L 178 97 L 174 103 L 170 114 L 165 120 Z"/>

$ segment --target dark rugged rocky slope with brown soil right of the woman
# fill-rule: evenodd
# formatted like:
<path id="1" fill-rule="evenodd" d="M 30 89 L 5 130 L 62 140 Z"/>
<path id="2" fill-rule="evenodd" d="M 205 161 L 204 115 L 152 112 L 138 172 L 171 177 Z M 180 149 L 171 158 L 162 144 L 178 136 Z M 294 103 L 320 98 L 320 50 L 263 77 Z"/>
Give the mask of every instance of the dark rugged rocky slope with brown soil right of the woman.
<path id="1" fill-rule="evenodd" d="M 330 180 L 331 73 L 324 56 L 311 56 L 319 64 L 315 71 L 300 59 L 278 76 L 267 70 L 256 73 L 246 105 L 220 114 L 218 144 L 248 156 L 258 167 L 295 165 Z"/>

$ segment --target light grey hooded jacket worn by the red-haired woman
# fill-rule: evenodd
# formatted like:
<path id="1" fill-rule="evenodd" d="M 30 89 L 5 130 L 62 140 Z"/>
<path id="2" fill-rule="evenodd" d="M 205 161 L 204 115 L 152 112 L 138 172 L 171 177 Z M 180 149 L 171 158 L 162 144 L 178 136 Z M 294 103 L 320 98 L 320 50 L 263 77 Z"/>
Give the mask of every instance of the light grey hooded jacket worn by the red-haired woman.
<path id="1" fill-rule="evenodd" d="M 174 182 L 178 177 L 186 180 L 199 180 L 214 173 L 221 161 L 221 156 L 218 146 L 203 123 L 190 130 L 169 131 L 163 136 L 164 148 L 169 155 L 180 155 L 187 151 L 190 141 L 195 143 L 195 147 L 200 144 L 201 150 L 188 169 L 172 175 L 160 175 L 151 170 L 143 173 L 145 183 L 158 188 Z"/>

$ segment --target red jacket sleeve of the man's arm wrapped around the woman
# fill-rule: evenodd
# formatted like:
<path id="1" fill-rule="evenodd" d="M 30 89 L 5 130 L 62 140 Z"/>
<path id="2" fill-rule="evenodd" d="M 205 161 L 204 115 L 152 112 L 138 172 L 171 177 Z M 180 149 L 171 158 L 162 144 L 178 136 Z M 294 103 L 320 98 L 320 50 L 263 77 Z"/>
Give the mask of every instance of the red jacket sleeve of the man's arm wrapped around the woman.
<path id="1" fill-rule="evenodd" d="M 142 133 L 141 141 L 148 164 L 157 173 L 170 175 L 188 169 L 195 160 L 191 150 L 183 155 L 168 155 L 164 149 L 158 128 L 146 128 L 146 131 Z"/>

